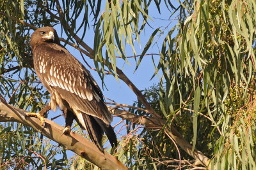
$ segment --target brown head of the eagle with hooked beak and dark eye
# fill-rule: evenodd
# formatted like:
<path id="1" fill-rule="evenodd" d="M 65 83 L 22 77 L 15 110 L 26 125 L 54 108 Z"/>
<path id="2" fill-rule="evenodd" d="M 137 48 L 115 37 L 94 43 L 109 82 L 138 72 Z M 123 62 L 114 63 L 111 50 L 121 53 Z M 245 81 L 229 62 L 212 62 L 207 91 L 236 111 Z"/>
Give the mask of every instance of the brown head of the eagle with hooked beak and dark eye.
<path id="1" fill-rule="evenodd" d="M 40 43 L 49 42 L 60 45 L 60 39 L 56 30 L 52 27 L 40 27 L 33 32 L 30 45 L 32 48 Z"/>

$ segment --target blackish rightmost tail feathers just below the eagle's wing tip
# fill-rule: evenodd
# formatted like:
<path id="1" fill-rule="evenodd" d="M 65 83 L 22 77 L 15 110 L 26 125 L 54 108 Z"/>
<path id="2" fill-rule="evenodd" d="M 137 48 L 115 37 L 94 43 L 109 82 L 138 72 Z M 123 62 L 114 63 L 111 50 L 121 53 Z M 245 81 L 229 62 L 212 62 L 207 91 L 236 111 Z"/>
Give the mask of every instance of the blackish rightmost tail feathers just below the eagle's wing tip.
<path id="1" fill-rule="evenodd" d="M 117 139 L 116 139 L 116 134 L 113 130 L 113 127 L 111 125 L 106 125 L 102 120 L 99 118 L 94 117 L 96 122 L 100 125 L 100 127 L 103 129 L 103 131 L 106 133 L 109 142 L 112 147 L 117 146 Z"/>

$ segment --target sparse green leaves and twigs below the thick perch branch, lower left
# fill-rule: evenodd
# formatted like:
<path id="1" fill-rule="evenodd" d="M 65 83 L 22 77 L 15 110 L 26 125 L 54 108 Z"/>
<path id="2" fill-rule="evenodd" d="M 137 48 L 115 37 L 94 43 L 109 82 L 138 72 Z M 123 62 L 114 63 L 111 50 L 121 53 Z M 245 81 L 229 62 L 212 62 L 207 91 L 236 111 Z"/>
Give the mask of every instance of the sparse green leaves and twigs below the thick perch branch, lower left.
<path id="1" fill-rule="evenodd" d="M 52 145 L 39 133 L 22 124 L 8 122 L 1 125 L 1 169 L 15 167 L 23 169 L 43 169 L 54 167 L 63 169 L 67 155 L 58 145 Z M 49 151 L 49 148 L 51 150 Z M 56 155 L 62 155 L 56 160 Z"/>

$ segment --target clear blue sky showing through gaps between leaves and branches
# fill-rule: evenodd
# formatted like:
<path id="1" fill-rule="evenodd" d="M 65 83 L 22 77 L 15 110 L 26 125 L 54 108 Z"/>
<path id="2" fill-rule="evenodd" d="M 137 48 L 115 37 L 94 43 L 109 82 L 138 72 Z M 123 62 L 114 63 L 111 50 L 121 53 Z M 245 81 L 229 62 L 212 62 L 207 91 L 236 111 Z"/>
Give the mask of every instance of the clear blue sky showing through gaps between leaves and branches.
<path id="1" fill-rule="evenodd" d="M 104 5 L 102 7 L 104 7 Z M 102 11 L 103 10 L 104 8 L 102 8 Z M 143 47 L 146 45 L 152 32 L 154 32 L 155 29 L 161 26 L 161 30 L 164 30 L 164 29 L 166 30 L 163 32 L 161 36 L 159 36 L 158 34 L 155 37 L 154 43 L 152 43 L 152 45 L 150 46 L 147 52 L 147 53 L 159 53 L 158 48 L 159 46 L 162 45 L 163 39 L 165 38 L 168 31 L 170 31 L 170 29 L 172 29 L 172 27 L 176 24 L 175 20 L 172 21 L 173 18 L 169 18 L 171 15 L 171 12 L 168 11 L 164 3 L 161 3 L 161 14 L 159 14 L 156 8 L 156 5 L 154 4 L 151 5 L 148 11 L 149 11 L 149 17 L 151 17 L 152 20 L 148 20 L 150 27 L 147 25 L 145 27 L 145 31 L 141 32 L 141 36 L 140 36 L 141 47 L 137 41 L 134 42 L 137 55 L 140 55 L 140 53 L 143 51 Z M 77 23 L 79 22 L 81 22 L 81 20 L 78 19 Z M 92 25 L 93 22 L 91 22 L 90 24 Z M 57 30 L 57 32 L 61 32 L 60 25 L 56 25 L 54 26 L 54 28 Z M 77 34 L 77 36 L 81 37 L 82 32 L 79 32 L 79 33 L 80 34 Z M 67 38 L 65 34 L 62 34 L 62 35 L 59 34 L 59 36 L 65 39 Z M 86 35 L 84 36 L 83 41 L 87 45 L 89 45 L 91 48 L 93 48 L 93 39 L 94 39 L 94 31 L 93 31 L 93 27 L 90 27 L 89 29 L 87 29 Z M 157 46 L 157 44 L 159 46 Z M 68 45 L 66 46 L 66 48 L 69 50 L 70 53 L 72 53 L 72 55 L 74 55 L 80 62 L 82 62 L 84 66 L 86 66 L 78 50 Z M 133 55 L 132 50 L 129 49 L 129 47 L 125 48 L 125 51 L 127 56 Z M 86 59 L 86 62 L 88 62 L 90 66 L 95 67 L 93 64 L 93 60 L 89 59 L 89 57 L 86 57 L 85 55 L 84 57 Z M 136 85 L 136 87 L 138 87 L 139 90 L 144 90 L 145 88 L 152 86 L 154 83 L 159 82 L 159 78 L 157 76 L 155 76 L 152 80 L 150 80 L 150 78 L 152 77 L 155 71 L 152 63 L 151 55 L 146 55 L 145 57 L 143 57 L 143 60 L 141 61 L 141 64 L 136 70 L 136 72 L 134 72 L 134 69 L 136 68 L 136 62 L 134 59 L 132 58 L 128 59 L 131 66 L 126 64 L 125 61 L 122 59 L 116 59 L 116 60 L 117 60 L 116 66 L 122 69 L 122 71 L 126 74 L 126 76 L 134 83 L 134 85 Z M 159 60 L 159 56 L 154 55 L 154 60 L 157 64 Z M 86 68 L 89 69 L 88 66 L 86 66 Z M 89 69 L 89 71 L 91 72 L 95 81 L 97 81 L 97 83 L 99 84 L 99 87 L 102 89 L 99 74 L 96 71 L 93 71 L 92 69 Z M 104 83 L 108 89 L 107 90 L 106 88 L 104 88 L 104 90 L 102 90 L 105 97 L 108 97 L 109 99 L 114 100 L 116 103 L 129 104 L 129 105 L 132 105 L 134 101 L 137 101 L 137 97 L 134 94 L 134 92 L 132 92 L 132 90 L 122 80 L 116 81 L 116 79 L 112 75 L 106 75 L 106 77 L 104 78 Z M 48 118 L 56 117 L 60 113 L 61 113 L 60 110 L 57 110 L 56 113 L 54 113 L 53 111 L 50 111 Z M 64 117 L 56 118 L 54 122 L 63 126 L 65 125 Z M 111 125 L 115 125 L 118 122 L 120 122 L 120 118 L 115 117 L 113 118 L 113 123 Z M 120 127 L 116 127 L 115 132 L 118 131 L 119 128 Z M 125 135 L 126 131 L 121 132 L 121 134 Z M 68 157 L 71 157 L 73 155 L 73 153 L 70 151 L 68 151 L 67 153 L 68 153 Z"/>

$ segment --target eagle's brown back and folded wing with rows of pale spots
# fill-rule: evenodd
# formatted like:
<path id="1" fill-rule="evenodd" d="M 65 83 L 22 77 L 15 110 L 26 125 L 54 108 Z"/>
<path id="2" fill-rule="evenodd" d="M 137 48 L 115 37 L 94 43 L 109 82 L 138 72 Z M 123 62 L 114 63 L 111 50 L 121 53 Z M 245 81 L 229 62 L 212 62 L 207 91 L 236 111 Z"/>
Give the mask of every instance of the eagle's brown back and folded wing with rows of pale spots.
<path id="1" fill-rule="evenodd" d="M 108 125 L 112 122 L 99 86 L 68 50 L 54 43 L 45 43 L 35 49 L 34 57 L 40 80 L 54 88 L 70 108 L 98 117 Z M 47 85 L 46 89 L 51 89 Z"/>

